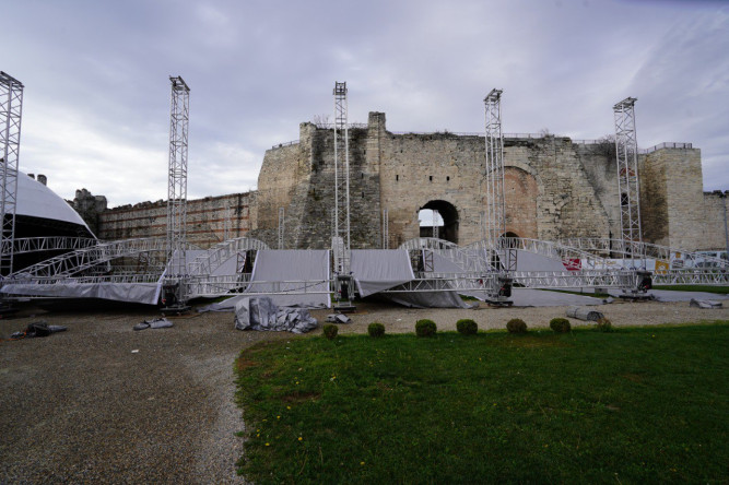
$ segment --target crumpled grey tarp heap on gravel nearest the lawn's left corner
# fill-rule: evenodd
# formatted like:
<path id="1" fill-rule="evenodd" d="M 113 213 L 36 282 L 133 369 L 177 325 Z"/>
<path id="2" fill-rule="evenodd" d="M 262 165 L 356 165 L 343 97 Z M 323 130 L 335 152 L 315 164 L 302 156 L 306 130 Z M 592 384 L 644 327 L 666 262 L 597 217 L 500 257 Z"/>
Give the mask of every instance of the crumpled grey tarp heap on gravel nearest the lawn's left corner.
<path id="1" fill-rule="evenodd" d="M 235 304 L 237 330 L 306 333 L 317 324 L 307 309 L 279 308 L 268 296 L 246 297 Z"/>

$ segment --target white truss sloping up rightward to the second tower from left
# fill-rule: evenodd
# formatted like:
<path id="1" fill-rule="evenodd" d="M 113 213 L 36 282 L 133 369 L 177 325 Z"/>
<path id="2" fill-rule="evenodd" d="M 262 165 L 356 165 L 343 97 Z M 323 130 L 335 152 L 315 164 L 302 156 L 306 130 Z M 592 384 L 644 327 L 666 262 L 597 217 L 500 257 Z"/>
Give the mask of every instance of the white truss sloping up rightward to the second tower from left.
<path id="1" fill-rule="evenodd" d="M 101 242 L 96 246 L 77 249 L 55 258 L 47 259 L 17 271 L 11 275 L 14 280 L 33 277 L 63 277 L 108 263 L 115 259 L 149 256 L 167 249 L 166 240 L 160 238 L 125 239 Z M 163 269 L 163 267 L 160 267 Z"/>

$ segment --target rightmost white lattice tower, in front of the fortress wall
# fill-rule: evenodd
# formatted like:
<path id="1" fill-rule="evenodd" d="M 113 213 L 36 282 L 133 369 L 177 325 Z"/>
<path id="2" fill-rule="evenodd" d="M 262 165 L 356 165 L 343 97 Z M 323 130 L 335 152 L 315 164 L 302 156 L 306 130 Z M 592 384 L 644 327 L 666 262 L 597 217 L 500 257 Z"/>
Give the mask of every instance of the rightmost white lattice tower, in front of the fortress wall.
<path id="1" fill-rule="evenodd" d="M 613 106 L 615 115 L 615 153 L 618 158 L 618 197 L 622 239 L 633 246 L 634 258 L 640 257 L 640 193 L 638 181 L 638 144 L 635 134 L 635 102 L 626 97 Z"/>

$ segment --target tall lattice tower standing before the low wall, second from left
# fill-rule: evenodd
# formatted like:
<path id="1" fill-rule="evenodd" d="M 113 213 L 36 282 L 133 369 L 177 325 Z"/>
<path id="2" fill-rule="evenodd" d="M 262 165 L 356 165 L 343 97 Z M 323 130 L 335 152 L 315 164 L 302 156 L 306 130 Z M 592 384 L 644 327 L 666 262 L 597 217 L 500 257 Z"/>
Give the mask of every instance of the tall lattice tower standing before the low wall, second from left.
<path id="1" fill-rule="evenodd" d="M 167 177 L 167 262 L 178 283 L 177 303 L 187 303 L 187 133 L 190 122 L 190 88 L 179 75 L 172 82 L 169 117 L 169 169 Z"/>

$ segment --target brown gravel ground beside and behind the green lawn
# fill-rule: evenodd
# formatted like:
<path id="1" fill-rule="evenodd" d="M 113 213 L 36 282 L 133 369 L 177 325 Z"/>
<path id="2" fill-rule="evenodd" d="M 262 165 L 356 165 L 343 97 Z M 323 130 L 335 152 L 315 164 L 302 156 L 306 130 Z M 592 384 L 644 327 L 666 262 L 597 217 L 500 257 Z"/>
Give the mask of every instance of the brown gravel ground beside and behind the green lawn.
<path id="1" fill-rule="evenodd" d="M 729 320 L 729 308 L 689 303 L 613 303 L 593 307 L 615 326 Z M 460 318 L 503 329 L 510 318 L 546 327 L 566 307 L 408 309 L 361 303 L 341 333 L 412 332 L 431 318 L 455 330 Z M 314 311 L 322 321 L 329 310 Z M 0 342 L 0 483 L 243 483 L 233 363 L 244 347 L 289 333 L 233 330 L 232 314 L 173 319 L 172 329 L 132 331 L 154 317 L 139 308 L 49 311 L 27 307 L 0 320 L 7 339 L 45 320 L 68 327 L 45 339 Z M 572 320 L 574 326 L 591 324 Z M 318 334 L 320 330 L 313 333 Z M 132 351 L 139 351 L 132 353 Z"/>

